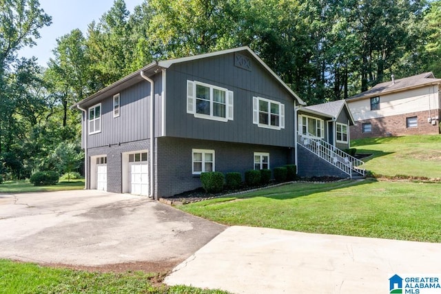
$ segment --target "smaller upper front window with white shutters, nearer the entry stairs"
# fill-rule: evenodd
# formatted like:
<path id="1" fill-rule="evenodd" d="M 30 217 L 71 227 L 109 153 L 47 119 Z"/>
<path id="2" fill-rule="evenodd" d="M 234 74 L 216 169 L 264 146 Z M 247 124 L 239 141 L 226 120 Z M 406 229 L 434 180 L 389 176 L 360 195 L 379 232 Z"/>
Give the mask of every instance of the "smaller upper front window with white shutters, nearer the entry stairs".
<path id="1" fill-rule="evenodd" d="M 285 105 L 278 101 L 253 97 L 253 123 L 268 129 L 285 129 Z"/>

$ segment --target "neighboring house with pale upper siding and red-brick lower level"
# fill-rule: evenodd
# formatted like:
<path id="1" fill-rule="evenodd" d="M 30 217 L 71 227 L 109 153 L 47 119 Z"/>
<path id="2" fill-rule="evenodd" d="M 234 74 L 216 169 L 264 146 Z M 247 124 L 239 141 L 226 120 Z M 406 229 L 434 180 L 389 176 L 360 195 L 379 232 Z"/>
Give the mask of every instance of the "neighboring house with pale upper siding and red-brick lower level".
<path id="1" fill-rule="evenodd" d="M 380 83 L 347 98 L 356 138 L 440 134 L 441 78 L 431 72 Z"/>

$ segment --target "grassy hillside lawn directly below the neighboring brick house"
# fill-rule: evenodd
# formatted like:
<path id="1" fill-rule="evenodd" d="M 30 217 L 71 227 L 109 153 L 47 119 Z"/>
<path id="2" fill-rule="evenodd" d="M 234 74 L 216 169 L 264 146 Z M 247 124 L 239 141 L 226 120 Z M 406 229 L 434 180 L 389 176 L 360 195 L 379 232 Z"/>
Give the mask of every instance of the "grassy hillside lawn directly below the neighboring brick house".
<path id="1" fill-rule="evenodd" d="M 403 136 L 351 141 L 363 158 L 363 168 L 375 176 L 441 178 L 441 136 Z"/>

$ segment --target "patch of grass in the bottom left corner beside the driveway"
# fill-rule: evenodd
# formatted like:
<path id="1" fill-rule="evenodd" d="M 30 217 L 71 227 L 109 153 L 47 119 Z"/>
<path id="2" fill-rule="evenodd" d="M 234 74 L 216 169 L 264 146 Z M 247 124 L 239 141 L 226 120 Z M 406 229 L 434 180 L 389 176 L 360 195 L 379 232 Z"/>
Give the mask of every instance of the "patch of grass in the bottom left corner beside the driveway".
<path id="1" fill-rule="evenodd" d="M 0 293 L 227 293 L 155 282 L 155 273 L 91 273 L 0 260 Z"/>

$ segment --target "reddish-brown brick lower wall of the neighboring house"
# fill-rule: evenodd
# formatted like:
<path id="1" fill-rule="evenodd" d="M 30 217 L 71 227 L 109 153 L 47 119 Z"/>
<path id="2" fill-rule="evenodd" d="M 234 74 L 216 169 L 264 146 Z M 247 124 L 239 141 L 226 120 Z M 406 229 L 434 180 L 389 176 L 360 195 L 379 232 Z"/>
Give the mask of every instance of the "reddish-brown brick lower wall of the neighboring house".
<path id="1" fill-rule="evenodd" d="M 440 118 L 440 109 L 431 113 L 432 117 Z M 417 116 L 418 127 L 407 127 L 406 118 Z M 427 122 L 429 113 L 413 112 L 398 116 L 385 116 L 382 118 L 371 118 L 369 120 L 358 120 L 356 125 L 350 127 L 351 139 L 378 138 L 387 136 L 408 136 L 408 135 L 429 135 L 440 134 L 440 121 L 436 120 L 435 125 Z M 363 133 L 362 125 L 371 123 L 372 132 Z"/>

